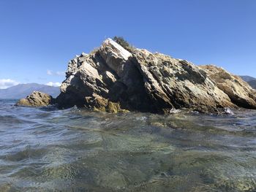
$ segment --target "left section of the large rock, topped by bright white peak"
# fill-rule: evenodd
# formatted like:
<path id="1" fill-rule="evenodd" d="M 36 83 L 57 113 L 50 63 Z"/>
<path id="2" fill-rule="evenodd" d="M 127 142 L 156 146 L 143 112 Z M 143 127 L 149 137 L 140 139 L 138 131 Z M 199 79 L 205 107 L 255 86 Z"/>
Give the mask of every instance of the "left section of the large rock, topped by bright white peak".
<path id="1" fill-rule="evenodd" d="M 60 107 L 102 109 L 95 105 L 95 100 L 102 99 L 107 103 L 105 106 L 111 101 L 122 110 L 155 112 L 143 88 L 143 76 L 130 58 L 132 54 L 111 39 L 95 53 L 74 58 L 61 85 Z"/>

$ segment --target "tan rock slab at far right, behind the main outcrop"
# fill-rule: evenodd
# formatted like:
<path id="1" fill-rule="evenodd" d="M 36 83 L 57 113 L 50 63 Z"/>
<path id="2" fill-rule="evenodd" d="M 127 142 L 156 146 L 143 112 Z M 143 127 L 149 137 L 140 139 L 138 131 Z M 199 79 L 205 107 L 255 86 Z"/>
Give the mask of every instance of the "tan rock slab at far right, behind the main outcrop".
<path id="1" fill-rule="evenodd" d="M 225 92 L 238 107 L 256 109 L 256 91 L 241 77 L 213 65 L 200 66 L 200 68 L 207 72 L 216 82 L 217 87 Z"/>

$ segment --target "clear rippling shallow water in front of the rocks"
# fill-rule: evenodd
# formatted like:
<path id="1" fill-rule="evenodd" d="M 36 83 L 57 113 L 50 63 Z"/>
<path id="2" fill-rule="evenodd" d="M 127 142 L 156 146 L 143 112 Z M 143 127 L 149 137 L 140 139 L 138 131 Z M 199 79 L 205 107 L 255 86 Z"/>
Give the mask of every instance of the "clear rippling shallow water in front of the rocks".
<path id="1" fill-rule="evenodd" d="M 106 114 L 0 100 L 0 191 L 256 191 L 256 112 Z"/>

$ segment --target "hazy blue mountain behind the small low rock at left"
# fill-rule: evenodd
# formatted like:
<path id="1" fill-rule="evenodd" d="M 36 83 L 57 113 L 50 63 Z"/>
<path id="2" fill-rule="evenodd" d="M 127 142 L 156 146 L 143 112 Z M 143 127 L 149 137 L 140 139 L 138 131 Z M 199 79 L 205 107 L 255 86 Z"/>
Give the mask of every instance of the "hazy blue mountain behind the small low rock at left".
<path id="1" fill-rule="evenodd" d="M 37 83 L 27 83 L 15 85 L 10 88 L 0 89 L 0 99 L 21 99 L 25 98 L 33 91 L 42 91 L 48 93 L 50 96 L 59 96 L 59 87 L 52 87 L 48 85 L 40 85 Z"/>

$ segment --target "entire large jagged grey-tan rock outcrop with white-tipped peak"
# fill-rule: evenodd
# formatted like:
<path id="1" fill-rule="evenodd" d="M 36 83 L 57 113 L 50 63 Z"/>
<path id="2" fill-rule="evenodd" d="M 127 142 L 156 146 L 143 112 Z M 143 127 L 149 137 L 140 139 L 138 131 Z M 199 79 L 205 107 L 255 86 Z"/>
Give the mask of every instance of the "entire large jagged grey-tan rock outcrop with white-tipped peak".
<path id="1" fill-rule="evenodd" d="M 76 105 L 106 112 L 157 113 L 188 108 L 219 113 L 237 105 L 253 108 L 255 102 L 251 96 L 241 105 L 208 69 L 148 50 L 129 53 L 112 39 L 106 39 L 93 53 L 72 59 L 66 77 L 57 98 L 61 108 Z M 250 89 L 244 91 L 252 94 Z"/>

